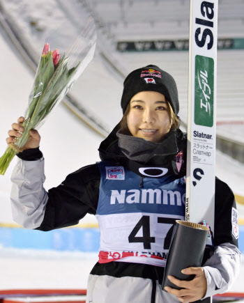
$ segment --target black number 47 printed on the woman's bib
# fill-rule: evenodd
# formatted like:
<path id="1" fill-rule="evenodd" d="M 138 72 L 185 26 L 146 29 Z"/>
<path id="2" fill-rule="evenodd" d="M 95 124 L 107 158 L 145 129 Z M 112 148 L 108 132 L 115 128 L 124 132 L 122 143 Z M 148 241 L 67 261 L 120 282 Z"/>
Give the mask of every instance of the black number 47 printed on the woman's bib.
<path id="1" fill-rule="evenodd" d="M 165 237 L 163 249 L 169 249 L 175 221 L 176 221 L 175 218 L 158 217 L 159 224 L 171 225 Z M 141 228 L 142 228 L 142 237 L 139 237 L 137 236 L 137 233 Z M 151 237 L 151 233 L 150 233 L 150 216 L 143 216 L 141 219 L 139 219 L 137 225 L 132 229 L 132 232 L 130 233 L 128 240 L 129 243 L 135 243 L 135 242 L 143 243 L 144 249 L 151 249 L 151 243 L 155 243 L 155 237 Z"/>

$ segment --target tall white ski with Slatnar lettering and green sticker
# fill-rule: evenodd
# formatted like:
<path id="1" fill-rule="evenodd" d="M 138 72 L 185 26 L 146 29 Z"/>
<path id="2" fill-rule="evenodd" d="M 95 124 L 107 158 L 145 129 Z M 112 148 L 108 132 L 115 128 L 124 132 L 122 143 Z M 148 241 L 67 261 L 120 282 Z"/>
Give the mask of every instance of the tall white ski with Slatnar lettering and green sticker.
<path id="1" fill-rule="evenodd" d="M 214 232 L 218 0 L 190 1 L 185 220 Z"/>

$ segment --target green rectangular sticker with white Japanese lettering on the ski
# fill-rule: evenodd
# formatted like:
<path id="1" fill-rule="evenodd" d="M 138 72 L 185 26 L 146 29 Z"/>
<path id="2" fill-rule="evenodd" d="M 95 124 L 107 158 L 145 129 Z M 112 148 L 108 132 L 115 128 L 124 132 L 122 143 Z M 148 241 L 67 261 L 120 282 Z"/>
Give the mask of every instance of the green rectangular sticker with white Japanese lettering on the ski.
<path id="1" fill-rule="evenodd" d="M 212 58 L 195 58 L 195 124 L 213 126 L 213 79 Z"/>

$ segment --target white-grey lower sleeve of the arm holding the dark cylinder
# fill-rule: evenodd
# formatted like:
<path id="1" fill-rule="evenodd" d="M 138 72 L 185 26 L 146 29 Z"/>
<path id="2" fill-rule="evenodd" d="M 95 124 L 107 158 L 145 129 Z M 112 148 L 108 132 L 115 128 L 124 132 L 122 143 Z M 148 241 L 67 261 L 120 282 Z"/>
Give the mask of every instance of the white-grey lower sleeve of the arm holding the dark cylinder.
<path id="1" fill-rule="evenodd" d="M 241 251 L 234 244 L 223 243 L 215 247 L 215 252 L 204 264 L 208 287 L 206 297 L 225 293 L 239 274 Z"/>

